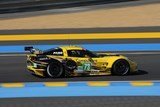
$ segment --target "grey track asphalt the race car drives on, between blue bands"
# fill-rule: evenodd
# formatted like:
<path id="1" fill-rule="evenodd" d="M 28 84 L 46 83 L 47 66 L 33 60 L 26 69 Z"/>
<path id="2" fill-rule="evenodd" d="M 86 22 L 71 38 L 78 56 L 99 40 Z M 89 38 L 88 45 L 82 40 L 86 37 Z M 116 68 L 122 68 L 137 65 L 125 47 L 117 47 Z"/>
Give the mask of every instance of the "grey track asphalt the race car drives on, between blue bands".
<path id="1" fill-rule="evenodd" d="M 128 76 L 94 76 L 57 79 L 41 78 L 31 75 L 26 69 L 25 56 L 0 56 L 0 83 L 45 81 L 130 81 L 160 79 L 160 54 L 128 54 L 126 56 L 138 63 L 139 73 Z"/>

